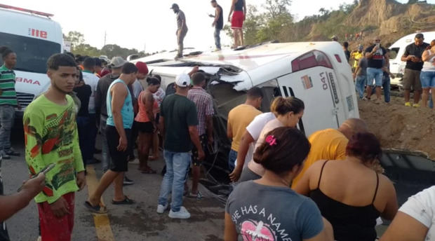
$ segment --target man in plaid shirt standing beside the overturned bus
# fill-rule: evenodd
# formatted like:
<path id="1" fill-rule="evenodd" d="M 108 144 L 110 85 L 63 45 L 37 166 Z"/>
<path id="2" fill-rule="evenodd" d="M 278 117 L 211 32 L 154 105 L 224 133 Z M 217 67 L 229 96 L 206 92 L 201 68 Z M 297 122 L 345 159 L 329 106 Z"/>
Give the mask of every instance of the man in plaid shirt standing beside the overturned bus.
<path id="1" fill-rule="evenodd" d="M 204 152 L 207 144 L 213 144 L 213 98 L 203 88 L 206 86 L 206 76 L 197 72 L 192 75 L 192 83 L 194 87 L 189 90 L 187 98 L 192 100 L 196 105 L 198 112 L 198 134 Z M 194 147 L 192 150 L 192 192 L 189 197 L 201 199 L 202 195 L 198 191 L 199 174 L 201 172 L 201 162 L 198 160 L 198 151 Z"/>

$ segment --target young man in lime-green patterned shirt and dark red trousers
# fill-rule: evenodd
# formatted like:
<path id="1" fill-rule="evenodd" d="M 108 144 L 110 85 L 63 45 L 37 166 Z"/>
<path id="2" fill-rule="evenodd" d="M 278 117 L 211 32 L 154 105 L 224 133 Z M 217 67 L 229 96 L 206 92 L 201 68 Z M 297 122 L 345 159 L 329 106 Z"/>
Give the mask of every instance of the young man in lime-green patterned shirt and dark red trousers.
<path id="1" fill-rule="evenodd" d="M 76 62 L 67 54 L 55 54 L 47 69 L 51 87 L 23 116 L 26 162 L 32 176 L 55 164 L 35 202 L 42 240 L 68 241 L 74 227 L 74 194 L 86 186 L 75 104 L 68 95 L 76 82 Z"/>

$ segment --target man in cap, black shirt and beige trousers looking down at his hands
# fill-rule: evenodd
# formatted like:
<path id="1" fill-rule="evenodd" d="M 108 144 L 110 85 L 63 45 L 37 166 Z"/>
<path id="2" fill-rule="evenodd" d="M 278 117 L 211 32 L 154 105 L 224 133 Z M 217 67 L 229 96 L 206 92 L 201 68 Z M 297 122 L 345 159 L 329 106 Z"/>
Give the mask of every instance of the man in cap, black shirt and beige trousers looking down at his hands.
<path id="1" fill-rule="evenodd" d="M 422 93 L 422 83 L 420 82 L 420 72 L 423 68 L 422 54 L 429 46 L 429 43 L 424 43 L 423 34 L 416 34 L 414 43 L 406 46 L 405 53 L 401 57 L 402 61 L 406 61 L 405 74 L 403 76 L 403 88 L 405 89 L 405 105 L 411 106 L 410 89 L 413 86 L 414 90 L 414 107 L 420 106 L 420 95 Z"/>

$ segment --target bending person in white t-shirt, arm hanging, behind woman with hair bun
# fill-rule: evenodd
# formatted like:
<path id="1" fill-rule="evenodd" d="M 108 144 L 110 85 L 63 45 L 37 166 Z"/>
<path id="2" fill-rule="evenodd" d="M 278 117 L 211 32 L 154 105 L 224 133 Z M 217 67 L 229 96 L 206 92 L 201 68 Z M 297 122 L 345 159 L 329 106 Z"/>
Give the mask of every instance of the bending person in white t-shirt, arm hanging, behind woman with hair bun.
<path id="1" fill-rule="evenodd" d="M 234 171 L 229 174 L 231 181 L 239 180 L 241 171 L 253 158 L 254 146 L 257 143 L 257 139 L 260 137 L 261 131 L 269 121 L 275 118 L 272 112 L 262 113 L 255 116 L 254 120 L 246 127 L 245 134 L 240 142 L 239 152 L 237 153 L 236 167 Z"/>

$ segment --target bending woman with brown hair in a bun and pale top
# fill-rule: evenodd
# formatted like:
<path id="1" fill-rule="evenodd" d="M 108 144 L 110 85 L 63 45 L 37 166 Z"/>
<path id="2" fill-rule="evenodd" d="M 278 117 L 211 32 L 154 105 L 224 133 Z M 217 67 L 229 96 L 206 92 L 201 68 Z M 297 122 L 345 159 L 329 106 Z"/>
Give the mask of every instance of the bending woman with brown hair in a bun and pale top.
<path id="1" fill-rule="evenodd" d="M 275 116 L 276 119 L 269 121 L 265 128 L 262 129 L 260 137 L 258 137 L 257 143 L 255 144 L 255 149 L 260 146 L 265 141 L 265 135 L 280 127 L 290 127 L 295 128 L 297 123 L 299 123 L 300 118 L 304 114 L 304 102 L 301 99 L 295 97 L 276 98 Z M 254 152 L 255 152 L 254 149 Z M 241 177 L 239 181 L 249 181 L 260 179 L 265 173 L 265 168 L 261 164 L 255 163 L 252 159 L 248 163 L 248 167 L 243 169 L 241 172 Z"/>

